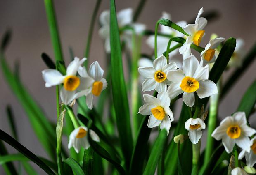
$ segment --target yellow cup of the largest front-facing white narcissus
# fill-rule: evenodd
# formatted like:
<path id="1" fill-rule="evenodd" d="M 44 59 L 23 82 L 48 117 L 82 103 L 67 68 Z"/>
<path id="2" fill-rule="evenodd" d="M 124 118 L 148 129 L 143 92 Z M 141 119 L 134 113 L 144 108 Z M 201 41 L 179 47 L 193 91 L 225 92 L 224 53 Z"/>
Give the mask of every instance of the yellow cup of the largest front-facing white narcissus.
<path id="1" fill-rule="evenodd" d="M 184 92 L 195 92 L 199 88 L 199 82 L 192 77 L 185 76 L 181 81 L 180 88 Z"/>

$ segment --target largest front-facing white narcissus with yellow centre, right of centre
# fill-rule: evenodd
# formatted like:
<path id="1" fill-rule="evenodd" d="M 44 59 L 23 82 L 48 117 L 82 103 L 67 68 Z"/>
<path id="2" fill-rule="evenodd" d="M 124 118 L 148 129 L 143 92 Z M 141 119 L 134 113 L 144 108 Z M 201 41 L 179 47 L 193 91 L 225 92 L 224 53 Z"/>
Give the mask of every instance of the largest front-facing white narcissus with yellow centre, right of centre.
<path id="1" fill-rule="evenodd" d="M 195 92 L 197 92 L 200 99 L 218 93 L 216 84 L 208 80 L 209 66 L 202 67 L 199 65 L 194 55 L 183 60 L 182 69 L 171 70 L 167 73 L 167 79 L 171 82 L 168 84 L 167 90 L 170 99 L 174 99 L 177 95 L 183 93 L 184 103 L 192 107 Z"/>

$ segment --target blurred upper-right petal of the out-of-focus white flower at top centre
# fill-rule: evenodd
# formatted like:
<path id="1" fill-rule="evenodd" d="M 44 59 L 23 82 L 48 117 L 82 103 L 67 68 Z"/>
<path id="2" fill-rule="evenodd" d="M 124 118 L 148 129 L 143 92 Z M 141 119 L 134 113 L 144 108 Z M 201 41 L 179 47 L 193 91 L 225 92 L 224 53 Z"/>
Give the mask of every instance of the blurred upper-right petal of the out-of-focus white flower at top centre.
<path id="1" fill-rule="evenodd" d="M 133 21 L 133 9 L 127 8 L 127 9 L 120 10 L 116 14 L 116 18 L 117 18 L 119 27 L 123 27 L 125 25 L 128 25 L 128 24 L 132 23 L 132 21 Z"/>

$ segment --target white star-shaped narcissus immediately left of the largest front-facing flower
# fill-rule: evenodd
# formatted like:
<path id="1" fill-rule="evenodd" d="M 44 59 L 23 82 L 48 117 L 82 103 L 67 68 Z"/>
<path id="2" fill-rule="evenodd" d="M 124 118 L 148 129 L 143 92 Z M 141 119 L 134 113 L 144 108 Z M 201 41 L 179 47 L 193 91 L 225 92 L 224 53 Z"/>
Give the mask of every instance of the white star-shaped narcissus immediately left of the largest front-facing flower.
<path id="1" fill-rule="evenodd" d="M 166 74 L 170 70 L 176 70 L 177 65 L 175 62 L 167 64 L 167 60 L 164 55 L 156 58 L 153 61 L 153 67 L 139 67 L 138 71 L 140 75 L 146 78 L 142 83 L 142 91 L 151 91 L 156 89 L 157 92 L 166 91 L 168 81 Z"/>

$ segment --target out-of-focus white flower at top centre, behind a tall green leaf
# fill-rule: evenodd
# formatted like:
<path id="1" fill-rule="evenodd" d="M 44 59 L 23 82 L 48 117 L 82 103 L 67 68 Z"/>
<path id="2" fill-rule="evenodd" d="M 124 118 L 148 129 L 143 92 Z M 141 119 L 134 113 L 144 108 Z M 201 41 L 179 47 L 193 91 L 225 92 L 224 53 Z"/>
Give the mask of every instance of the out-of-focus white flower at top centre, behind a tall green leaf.
<path id="1" fill-rule="evenodd" d="M 116 14 L 117 23 L 119 29 L 129 25 L 135 30 L 135 33 L 138 35 L 142 33 L 146 26 L 141 23 L 133 23 L 133 9 L 127 8 L 119 11 Z M 100 25 L 102 26 L 99 30 L 99 35 L 104 39 L 104 48 L 107 53 L 110 53 L 110 12 L 109 10 L 105 10 L 100 14 Z M 120 33 L 121 41 L 125 41 L 128 48 L 132 47 L 132 31 L 124 30 Z"/>

